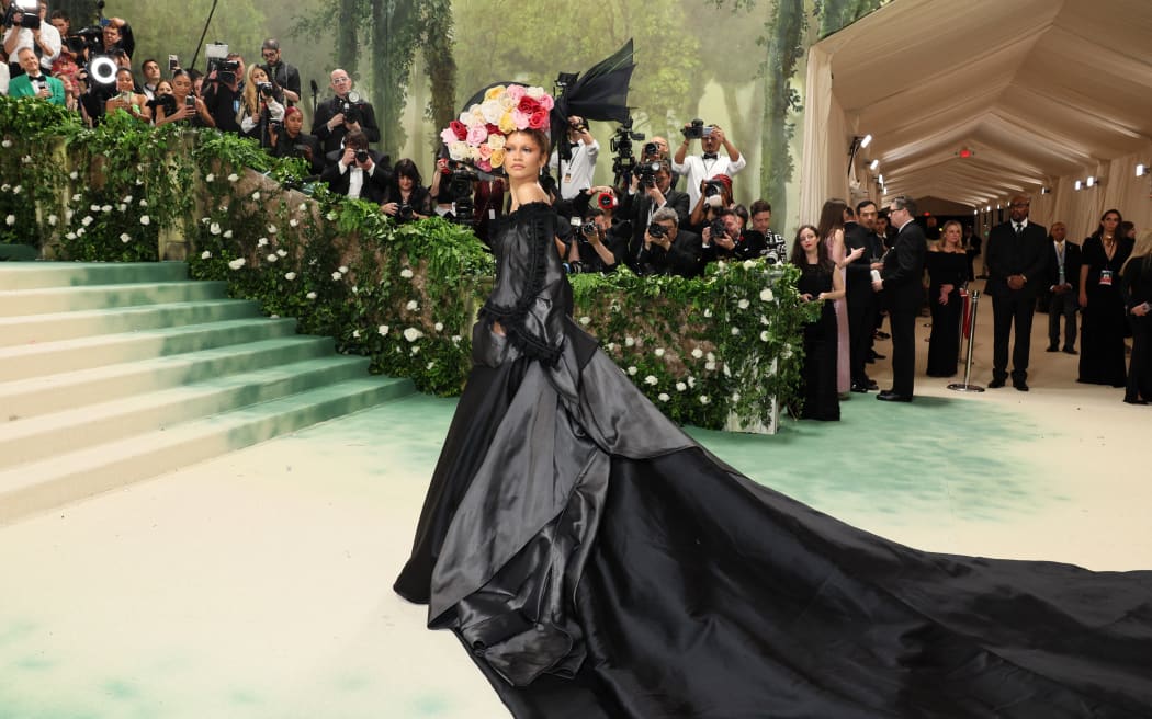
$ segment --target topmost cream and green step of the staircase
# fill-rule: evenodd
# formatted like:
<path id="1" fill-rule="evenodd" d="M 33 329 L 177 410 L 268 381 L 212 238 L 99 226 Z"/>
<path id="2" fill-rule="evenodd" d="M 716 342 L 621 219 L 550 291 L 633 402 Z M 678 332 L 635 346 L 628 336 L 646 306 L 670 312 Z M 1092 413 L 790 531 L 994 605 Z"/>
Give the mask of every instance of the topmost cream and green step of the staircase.
<path id="1" fill-rule="evenodd" d="M 188 280 L 184 262 L 5 262 L 0 290 Z"/>

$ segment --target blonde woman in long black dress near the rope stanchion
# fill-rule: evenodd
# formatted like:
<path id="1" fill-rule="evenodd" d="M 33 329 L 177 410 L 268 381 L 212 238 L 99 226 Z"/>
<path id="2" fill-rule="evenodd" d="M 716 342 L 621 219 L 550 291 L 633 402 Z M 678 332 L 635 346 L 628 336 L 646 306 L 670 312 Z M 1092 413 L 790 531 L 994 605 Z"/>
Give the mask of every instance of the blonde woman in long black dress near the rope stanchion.
<path id="1" fill-rule="evenodd" d="M 963 232 L 955 220 L 945 222 L 943 234 L 925 257 L 929 268 L 929 305 L 932 307 L 932 336 L 929 338 L 930 377 L 956 374 L 960 355 L 960 290 L 968 278 L 968 253 Z"/>

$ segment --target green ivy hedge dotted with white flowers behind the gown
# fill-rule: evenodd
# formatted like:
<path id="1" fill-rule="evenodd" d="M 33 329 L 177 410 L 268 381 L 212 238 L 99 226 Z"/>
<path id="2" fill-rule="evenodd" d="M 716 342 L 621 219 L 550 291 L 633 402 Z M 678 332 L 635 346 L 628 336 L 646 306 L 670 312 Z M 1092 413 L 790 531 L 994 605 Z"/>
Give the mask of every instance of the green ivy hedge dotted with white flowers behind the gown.
<path id="1" fill-rule="evenodd" d="M 166 259 L 195 278 L 335 338 L 372 370 L 456 395 L 492 257 L 440 219 L 397 224 L 370 204 L 298 186 L 300 161 L 215 131 L 152 129 L 123 113 L 97 129 L 51 105 L 0 97 L 0 242 L 82 261 Z M 12 179 L 15 178 L 15 179 Z M 813 319 L 796 268 L 710 266 L 705 277 L 574 275 L 576 320 L 677 422 L 772 426 L 798 401 L 801 331 Z"/>

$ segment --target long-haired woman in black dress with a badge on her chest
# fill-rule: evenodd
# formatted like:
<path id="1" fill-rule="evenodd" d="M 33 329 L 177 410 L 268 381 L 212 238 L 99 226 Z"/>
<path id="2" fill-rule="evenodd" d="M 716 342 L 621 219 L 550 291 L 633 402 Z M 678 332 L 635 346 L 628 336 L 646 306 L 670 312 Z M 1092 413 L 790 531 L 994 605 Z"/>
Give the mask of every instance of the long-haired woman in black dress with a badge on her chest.
<path id="1" fill-rule="evenodd" d="M 1081 266 L 1081 361 L 1077 382 L 1124 387 L 1127 318 L 1120 290 L 1120 268 L 1132 253 L 1132 240 L 1121 237 L 1123 217 L 1109 209 L 1096 234 L 1084 240 Z"/>

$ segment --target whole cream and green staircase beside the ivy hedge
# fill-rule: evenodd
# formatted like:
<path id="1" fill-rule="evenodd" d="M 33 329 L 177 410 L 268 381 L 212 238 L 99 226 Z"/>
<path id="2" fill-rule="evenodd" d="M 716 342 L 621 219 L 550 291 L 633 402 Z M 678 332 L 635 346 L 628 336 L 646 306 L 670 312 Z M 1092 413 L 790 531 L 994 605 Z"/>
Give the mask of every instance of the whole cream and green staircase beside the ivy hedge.
<path id="1" fill-rule="evenodd" d="M 0 525 L 414 392 L 182 262 L 0 262 Z"/>

